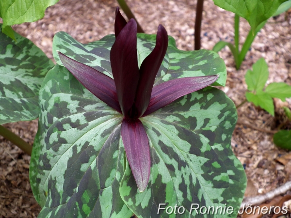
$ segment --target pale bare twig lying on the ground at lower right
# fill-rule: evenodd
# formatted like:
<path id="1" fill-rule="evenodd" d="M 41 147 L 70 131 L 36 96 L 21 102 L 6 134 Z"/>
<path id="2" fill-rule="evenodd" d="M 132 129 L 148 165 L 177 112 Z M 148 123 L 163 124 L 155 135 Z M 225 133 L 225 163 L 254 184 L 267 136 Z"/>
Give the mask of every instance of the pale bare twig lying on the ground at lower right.
<path id="1" fill-rule="evenodd" d="M 280 194 L 285 194 L 290 189 L 291 189 L 291 181 L 285 183 L 284 185 L 282 185 L 280 187 L 275 188 L 274 190 L 272 190 L 264 195 L 245 198 L 242 201 L 241 209 L 243 208 L 243 205 L 248 205 L 248 204 L 258 205 L 262 202 L 266 202 L 268 200 L 271 200 L 275 196 L 278 196 Z"/>

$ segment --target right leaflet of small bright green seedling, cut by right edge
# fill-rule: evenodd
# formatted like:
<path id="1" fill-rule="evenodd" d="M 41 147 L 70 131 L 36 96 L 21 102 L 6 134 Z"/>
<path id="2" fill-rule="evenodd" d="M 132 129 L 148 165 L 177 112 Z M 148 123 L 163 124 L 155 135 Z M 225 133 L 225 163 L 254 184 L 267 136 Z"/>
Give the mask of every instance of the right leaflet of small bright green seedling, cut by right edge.
<path id="1" fill-rule="evenodd" d="M 282 101 L 286 101 L 286 98 L 291 97 L 291 86 L 285 82 L 273 82 L 266 87 L 265 92 L 272 98 L 280 98 Z"/>

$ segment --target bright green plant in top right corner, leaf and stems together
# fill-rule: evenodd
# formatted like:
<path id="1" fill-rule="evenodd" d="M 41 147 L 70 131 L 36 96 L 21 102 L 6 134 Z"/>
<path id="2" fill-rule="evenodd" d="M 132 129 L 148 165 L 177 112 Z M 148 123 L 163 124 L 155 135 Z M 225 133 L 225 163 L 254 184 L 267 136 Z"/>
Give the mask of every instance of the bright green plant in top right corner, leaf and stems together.
<path id="1" fill-rule="evenodd" d="M 216 5 L 235 13 L 234 16 L 234 45 L 226 41 L 219 41 L 213 47 L 213 51 L 220 51 L 228 46 L 235 61 L 237 69 L 240 69 L 242 61 L 251 47 L 257 33 L 264 27 L 271 16 L 277 16 L 291 8 L 291 0 L 264 0 L 264 1 L 226 1 L 213 0 Z M 250 26 L 249 31 L 240 50 L 240 16 L 245 18 Z"/>

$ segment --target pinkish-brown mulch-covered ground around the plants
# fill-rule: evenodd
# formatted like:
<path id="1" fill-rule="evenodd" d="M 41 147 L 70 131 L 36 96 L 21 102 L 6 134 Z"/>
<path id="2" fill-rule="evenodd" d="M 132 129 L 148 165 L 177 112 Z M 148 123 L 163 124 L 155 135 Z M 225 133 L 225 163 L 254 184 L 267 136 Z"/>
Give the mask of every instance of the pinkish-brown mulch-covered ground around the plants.
<path id="1" fill-rule="evenodd" d="M 58 31 L 66 31 L 81 43 L 96 41 L 113 33 L 115 0 L 60 0 L 46 10 L 45 17 L 34 23 L 15 25 L 13 29 L 32 40 L 52 58 L 52 38 Z M 156 33 L 162 24 L 172 35 L 179 49 L 193 50 L 196 1 L 191 0 L 127 0 L 146 33 Z M 202 48 L 212 49 L 219 41 L 233 42 L 234 14 L 205 0 L 202 22 Z M 241 18 L 241 46 L 249 25 Z M 291 12 L 270 18 L 259 32 L 241 69 L 236 70 L 233 56 L 226 47 L 219 52 L 227 68 L 226 87 L 221 88 L 236 105 L 245 100 L 247 69 L 259 58 L 269 65 L 270 82 L 291 85 Z M 275 159 L 288 154 L 273 143 L 273 133 L 285 120 L 282 105 L 275 100 L 275 117 L 244 103 L 238 108 L 239 122 L 231 145 L 235 155 L 245 166 L 249 180 L 254 184 L 254 195 L 266 193 L 291 180 L 291 161 L 283 165 Z M 37 121 L 4 125 L 30 144 L 37 130 Z M 283 126 L 284 127 L 284 126 Z M 285 126 L 287 127 L 287 126 Z M 290 126 L 289 126 L 290 127 Z M 289 152 L 290 154 L 290 152 Z M 0 217 L 36 217 L 41 210 L 35 202 L 29 185 L 30 156 L 0 137 Z"/>

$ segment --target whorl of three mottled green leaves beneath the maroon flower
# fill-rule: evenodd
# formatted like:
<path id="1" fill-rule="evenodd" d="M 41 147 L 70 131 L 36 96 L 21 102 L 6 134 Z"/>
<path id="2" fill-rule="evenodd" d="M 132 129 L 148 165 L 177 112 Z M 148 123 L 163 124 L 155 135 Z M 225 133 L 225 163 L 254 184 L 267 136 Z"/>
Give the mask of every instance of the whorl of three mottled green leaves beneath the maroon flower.
<path id="1" fill-rule="evenodd" d="M 110 49 L 114 36 L 87 45 L 64 32 L 56 49 L 112 78 Z M 155 47 L 156 35 L 138 34 L 138 65 Z M 180 51 L 169 37 L 167 53 L 154 86 L 176 78 L 219 74 L 226 67 L 212 51 Z M 64 67 L 49 71 L 40 90 L 41 113 L 33 145 L 31 184 L 43 207 L 40 217 L 139 218 L 176 217 L 157 214 L 159 203 L 185 206 L 232 206 L 236 217 L 246 186 L 230 139 L 237 120 L 233 102 L 215 88 L 185 95 L 141 118 L 149 140 L 151 174 L 139 192 L 126 160 L 123 116 L 86 90 Z M 189 207 L 190 206 L 190 207 Z M 130 211 L 130 210 L 131 211 Z M 214 216 L 215 217 L 215 216 Z M 221 216 L 218 216 L 221 217 Z"/>

